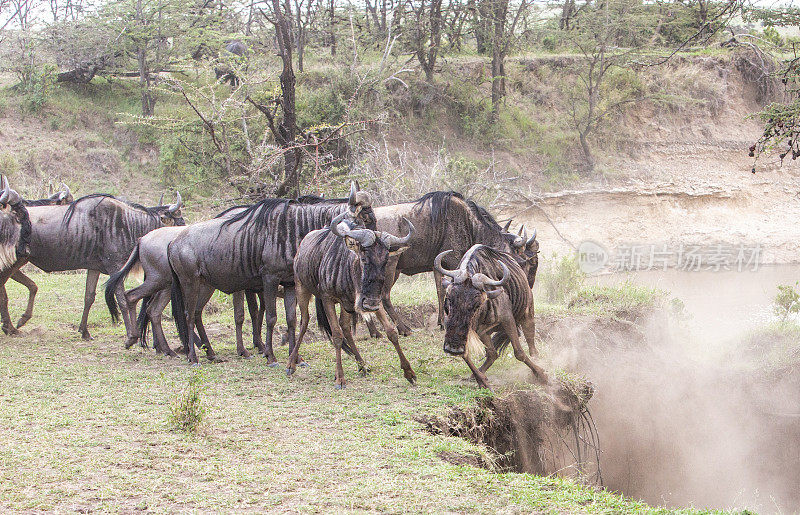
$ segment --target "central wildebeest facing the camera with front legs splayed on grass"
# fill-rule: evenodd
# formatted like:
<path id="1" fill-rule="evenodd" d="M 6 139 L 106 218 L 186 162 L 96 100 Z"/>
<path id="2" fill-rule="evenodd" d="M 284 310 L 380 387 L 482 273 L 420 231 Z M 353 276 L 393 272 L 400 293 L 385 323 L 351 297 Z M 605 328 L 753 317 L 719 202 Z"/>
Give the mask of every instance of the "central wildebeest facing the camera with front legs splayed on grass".
<path id="1" fill-rule="evenodd" d="M 414 234 L 414 226 L 407 219 L 408 235 L 398 238 L 364 228 L 355 228 L 351 222 L 343 222 L 347 213 L 334 218 L 327 229 L 308 233 L 300 243 L 294 259 L 295 288 L 300 306 L 300 334 L 292 350 L 287 366 L 291 375 L 295 370 L 295 359 L 300 343 L 308 329 L 308 303 L 311 296 L 317 298 L 317 319 L 328 334 L 336 352 L 336 388 L 345 385 L 342 370 L 342 345 L 346 338 L 359 370 L 366 373 L 364 360 L 358 352 L 350 332 L 350 321 L 354 313 L 376 313 L 383 324 L 389 340 L 400 357 L 403 375 L 411 384 L 416 375 L 403 354 L 397 330 L 383 308 L 384 284 L 388 272 Z M 341 224 L 340 224 L 341 223 Z M 336 317 L 336 304 L 341 304 L 341 316 Z"/>

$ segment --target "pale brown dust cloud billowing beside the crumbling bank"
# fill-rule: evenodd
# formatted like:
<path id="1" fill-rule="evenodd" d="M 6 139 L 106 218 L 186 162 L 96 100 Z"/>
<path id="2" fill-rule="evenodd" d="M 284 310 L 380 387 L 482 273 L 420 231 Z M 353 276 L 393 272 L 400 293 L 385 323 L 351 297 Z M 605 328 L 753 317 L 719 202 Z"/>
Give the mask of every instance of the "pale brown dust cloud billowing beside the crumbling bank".
<path id="1" fill-rule="evenodd" d="M 595 387 L 607 489 L 658 506 L 800 511 L 800 351 L 764 359 L 800 345 L 753 336 L 734 301 L 687 302 L 688 320 L 540 324 L 551 361 Z"/>

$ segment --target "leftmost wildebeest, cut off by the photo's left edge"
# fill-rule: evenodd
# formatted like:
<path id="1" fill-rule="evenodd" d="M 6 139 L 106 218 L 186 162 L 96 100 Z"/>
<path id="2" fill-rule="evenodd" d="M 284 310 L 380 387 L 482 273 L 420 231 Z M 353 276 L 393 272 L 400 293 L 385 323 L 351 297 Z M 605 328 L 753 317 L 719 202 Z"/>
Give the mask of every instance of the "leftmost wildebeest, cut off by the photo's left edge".
<path id="1" fill-rule="evenodd" d="M 0 180 L 0 317 L 3 332 L 15 334 L 8 312 L 6 282 L 28 261 L 31 241 L 31 221 L 25 203 L 8 185 L 5 176 Z"/>

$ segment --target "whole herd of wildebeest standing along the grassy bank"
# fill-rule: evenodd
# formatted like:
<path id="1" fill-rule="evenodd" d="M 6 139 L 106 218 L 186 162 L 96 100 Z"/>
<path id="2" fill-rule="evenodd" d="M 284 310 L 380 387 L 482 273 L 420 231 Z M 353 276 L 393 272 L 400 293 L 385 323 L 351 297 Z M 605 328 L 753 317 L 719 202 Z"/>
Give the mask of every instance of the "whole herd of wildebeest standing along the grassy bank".
<path id="1" fill-rule="evenodd" d="M 46 272 L 86 269 L 79 324 L 83 338 L 91 338 L 87 317 L 99 275 L 109 274 L 105 299 L 112 318 L 121 317 L 125 324 L 126 348 L 136 342 L 145 346 L 146 332 L 152 328 L 156 351 L 176 355 L 161 326 L 161 314 L 171 301 L 182 352 L 197 363 L 195 347 L 202 347 L 213 360 L 202 313 L 214 291 L 220 290 L 233 295 L 239 355 L 250 357 L 242 338 L 247 301 L 253 345 L 268 365 L 275 366 L 276 303 L 283 297 L 288 327 L 282 338 L 288 343 L 287 373 L 292 374 L 303 364 L 299 351 L 314 296 L 317 321 L 335 349 L 337 388 L 345 385 L 342 351 L 366 371 L 353 338 L 356 314 L 366 319 L 372 335 L 380 334 L 375 324 L 380 321 L 405 378 L 414 384 L 416 375 L 399 339 L 411 330 L 392 305 L 390 293 L 400 274 L 432 271 L 439 324 L 445 329 L 444 351 L 461 356 L 480 386 L 488 387 L 486 371 L 508 344 L 538 382 L 548 382 L 532 359 L 537 354 L 531 292 L 538 266 L 536 232 L 531 237 L 524 229 L 509 232 L 510 221 L 501 227 L 486 209 L 459 193 L 435 191 L 411 202 L 374 207 L 371 195 L 353 182 L 346 198 L 267 198 L 192 225 L 185 224 L 182 208 L 179 193 L 173 204 L 145 207 L 107 194 L 75 200 L 63 185 L 49 198 L 28 201 L 3 177 L 3 331 L 16 334 L 33 314 L 37 287 L 21 271 L 23 265 L 30 262 Z M 144 280 L 125 291 L 125 279 L 136 269 Z M 9 278 L 29 290 L 27 308 L 16 325 L 5 289 Z M 300 332 L 295 339 L 298 305 Z M 528 352 L 520 344 L 520 333 Z M 470 339 L 486 349 L 480 367 L 470 359 Z"/>

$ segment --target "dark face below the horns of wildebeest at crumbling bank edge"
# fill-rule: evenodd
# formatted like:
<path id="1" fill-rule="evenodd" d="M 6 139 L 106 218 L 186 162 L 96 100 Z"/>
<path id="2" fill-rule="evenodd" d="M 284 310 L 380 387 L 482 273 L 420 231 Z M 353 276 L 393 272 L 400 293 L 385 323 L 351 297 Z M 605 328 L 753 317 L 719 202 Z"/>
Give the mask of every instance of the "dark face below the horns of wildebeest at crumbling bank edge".
<path id="1" fill-rule="evenodd" d="M 483 311 L 486 296 L 469 281 L 447 288 L 445 300 L 444 351 L 461 356 L 466 351 L 467 336 Z"/>

